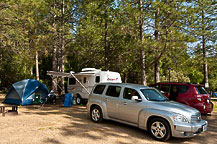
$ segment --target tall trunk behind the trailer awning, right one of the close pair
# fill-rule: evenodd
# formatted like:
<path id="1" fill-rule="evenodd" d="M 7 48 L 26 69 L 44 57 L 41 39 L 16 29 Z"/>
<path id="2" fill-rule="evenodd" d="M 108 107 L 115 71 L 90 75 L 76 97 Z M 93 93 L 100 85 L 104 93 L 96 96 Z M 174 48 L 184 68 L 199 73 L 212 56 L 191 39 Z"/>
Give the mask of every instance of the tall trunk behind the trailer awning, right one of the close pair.
<path id="1" fill-rule="evenodd" d="M 62 0 L 62 47 L 61 47 L 61 72 L 64 72 L 64 59 L 65 59 L 65 21 L 64 21 L 64 14 L 65 14 L 65 4 L 64 0 Z M 65 93 L 65 87 L 64 87 L 64 77 L 61 78 L 61 87 L 62 91 L 61 94 Z"/>

